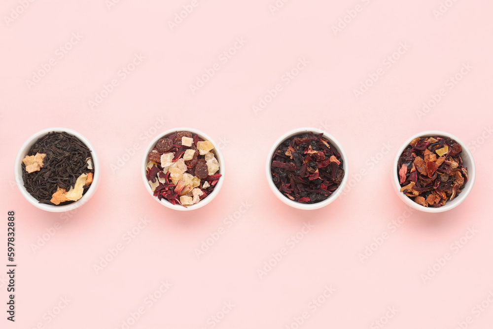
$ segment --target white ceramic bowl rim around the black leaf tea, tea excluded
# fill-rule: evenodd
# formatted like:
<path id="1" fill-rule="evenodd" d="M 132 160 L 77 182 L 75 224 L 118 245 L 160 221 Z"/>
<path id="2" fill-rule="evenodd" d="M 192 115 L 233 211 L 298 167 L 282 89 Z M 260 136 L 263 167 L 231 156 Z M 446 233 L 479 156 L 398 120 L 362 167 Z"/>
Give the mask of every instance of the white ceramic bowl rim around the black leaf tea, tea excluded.
<path id="1" fill-rule="evenodd" d="M 44 203 L 39 203 L 34 196 L 32 196 L 24 187 L 24 181 L 22 180 L 22 159 L 26 155 L 28 155 L 28 151 L 33 146 L 36 141 L 43 137 L 44 135 L 48 134 L 49 132 L 67 132 L 72 136 L 77 137 L 81 142 L 83 142 L 90 150 L 91 150 L 91 156 L 93 160 L 93 168 L 94 168 L 94 178 L 93 182 L 89 186 L 88 190 L 84 193 L 84 195 L 77 201 L 72 202 L 68 205 L 63 205 L 63 206 L 56 206 L 56 205 L 48 205 Z M 100 176 L 100 165 L 99 165 L 99 159 L 98 155 L 96 154 L 96 151 L 94 150 L 94 147 L 89 143 L 89 141 L 82 136 L 81 134 L 77 133 L 76 131 L 73 131 L 71 129 L 67 128 L 49 128 L 49 129 L 44 129 L 41 130 L 37 133 L 35 133 L 33 136 L 31 136 L 26 143 L 24 143 L 23 146 L 19 149 L 19 152 L 17 153 L 17 157 L 15 158 L 15 165 L 14 165 L 14 176 L 15 176 L 15 181 L 17 183 L 17 186 L 19 187 L 19 190 L 21 191 L 21 194 L 28 200 L 32 205 L 35 207 L 53 212 L 53 213 L 61 213 L 65 211 L 70 211 L 75 208 L 78 208 L 82 206 L 84 203 L 86 203 L 96 192 L 96 189 L 98 187 L 98 182 L 99 182 L 99 176 Z"/>

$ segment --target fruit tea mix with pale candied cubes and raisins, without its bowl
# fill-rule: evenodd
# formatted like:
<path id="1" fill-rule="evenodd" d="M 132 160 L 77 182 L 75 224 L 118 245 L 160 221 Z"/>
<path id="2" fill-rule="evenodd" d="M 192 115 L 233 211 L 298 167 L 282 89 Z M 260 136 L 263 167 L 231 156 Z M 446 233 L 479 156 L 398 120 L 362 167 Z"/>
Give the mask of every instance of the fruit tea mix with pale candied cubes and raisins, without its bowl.
<path id="1" fill-rule="evenodd" d="M 189 131 L 160 139 L 147 155 L 146 178 L 154 196 L 186 207 L 211 194 L 221 177 L 213 148 Z"/>

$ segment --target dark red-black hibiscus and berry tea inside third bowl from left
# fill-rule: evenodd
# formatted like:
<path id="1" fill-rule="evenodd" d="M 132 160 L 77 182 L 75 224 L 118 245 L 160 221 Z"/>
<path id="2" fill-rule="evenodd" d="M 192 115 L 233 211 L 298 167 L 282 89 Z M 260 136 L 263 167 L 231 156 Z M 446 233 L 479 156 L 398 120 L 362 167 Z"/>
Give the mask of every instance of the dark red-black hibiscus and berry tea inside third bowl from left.
<path id="1" fill-rule="evenodd" d="M 287 198 L 317 203 L 330 197 L 344 178 L 341 154 L 312 132 L 288 138 L 272 158 L 272 181 Z"/>

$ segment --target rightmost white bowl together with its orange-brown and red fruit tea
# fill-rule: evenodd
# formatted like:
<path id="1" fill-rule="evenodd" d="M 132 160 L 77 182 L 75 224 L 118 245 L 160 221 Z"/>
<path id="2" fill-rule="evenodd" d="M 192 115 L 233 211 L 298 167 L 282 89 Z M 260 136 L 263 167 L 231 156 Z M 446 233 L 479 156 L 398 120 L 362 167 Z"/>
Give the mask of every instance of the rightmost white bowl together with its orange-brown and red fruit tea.
<path id="1" fill-rule="evenodd" d="M 475 177 L 474 159 L 467 146 L 442 131 L 412 136 L 394 160 L 393 178 L 399 197 L 424 212 L 457 207 L 471 191 Z"/>

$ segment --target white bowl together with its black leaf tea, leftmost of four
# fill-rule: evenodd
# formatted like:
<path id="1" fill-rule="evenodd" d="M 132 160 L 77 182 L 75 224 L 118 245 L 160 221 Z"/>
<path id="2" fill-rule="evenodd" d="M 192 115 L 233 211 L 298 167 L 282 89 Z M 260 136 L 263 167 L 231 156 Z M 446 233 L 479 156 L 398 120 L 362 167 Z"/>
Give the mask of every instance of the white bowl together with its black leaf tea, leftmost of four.
<path id="1" fill-rule="evenodd" d="M 22 195 L 49 212 L 78 208 L 96 191 L 99 161 L 89 141 L 67 128 L 37 132 L 19 150 L 14 174 Z"/>

